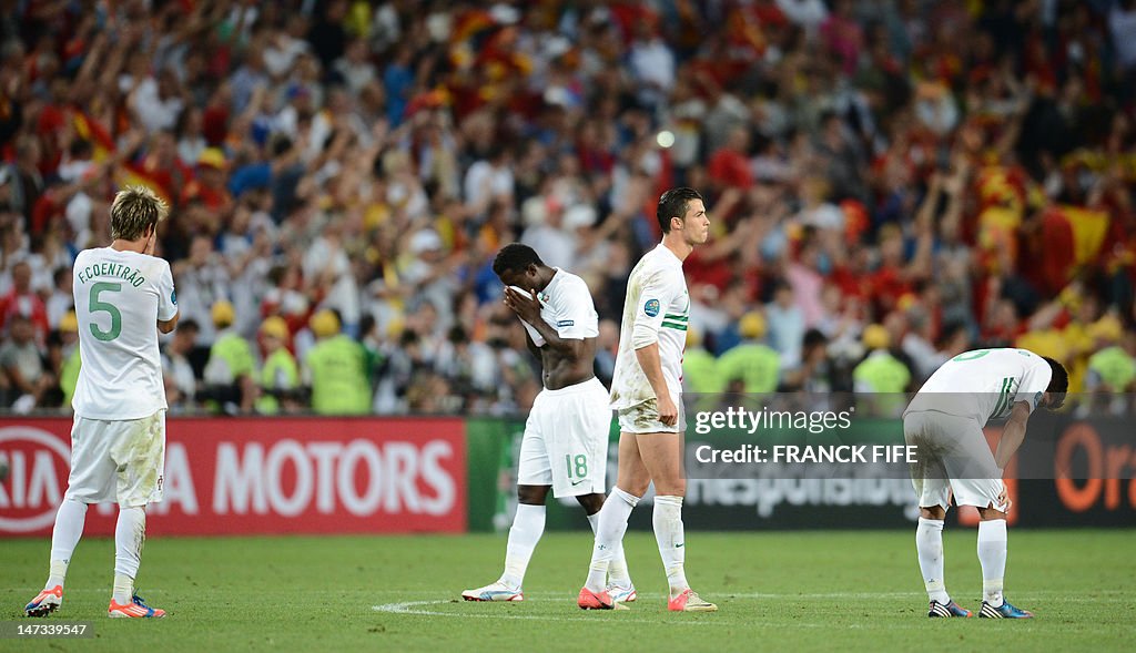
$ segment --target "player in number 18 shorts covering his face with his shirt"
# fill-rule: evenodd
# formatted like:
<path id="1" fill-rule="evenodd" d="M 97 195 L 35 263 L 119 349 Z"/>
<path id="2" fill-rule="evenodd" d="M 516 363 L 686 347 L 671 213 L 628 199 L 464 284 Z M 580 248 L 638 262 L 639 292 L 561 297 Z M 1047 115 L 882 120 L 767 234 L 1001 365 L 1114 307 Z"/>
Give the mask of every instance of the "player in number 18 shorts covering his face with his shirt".
<path id="1" fill-rule="evenodd" d="M 549 489 L 575 496 L 595 529 L 608 467 L 611 410 L 608 391 L 595 378 L 599 316 L 584 279 L 550 268 L 532 248 L 506 245 L 493 261 L 506 284 L 504 303 L 525 326 L 526 341 L 541 361 L 544 390 L 525 422 L 517 469 L 517 516 L 509 530 L 504 572 L 495 583 L 461 593 L 466 601 L 523 601 L 521 583 L 544 533 Z M 607 591 L 621 603 L 635 601 L 623 549 L 616 551 Z"/>

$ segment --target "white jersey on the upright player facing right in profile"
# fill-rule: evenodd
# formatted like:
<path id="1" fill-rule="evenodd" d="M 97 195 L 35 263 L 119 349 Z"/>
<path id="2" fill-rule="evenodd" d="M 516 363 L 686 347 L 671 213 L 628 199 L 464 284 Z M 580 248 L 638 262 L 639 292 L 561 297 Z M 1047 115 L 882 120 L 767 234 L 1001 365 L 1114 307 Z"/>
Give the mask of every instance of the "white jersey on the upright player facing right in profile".
<path id="1" fill-rule="evenodd" d="M 670 394 L 682 394 L 683 350 L 691 298 L 686 293 L 683 261 L 659 244 L 640 259 L 627 279 L 627 299 L 611 379 L 611 408 L 620 410 L 655 399 L 635 350 L 659 343 L 662 377 Z"/>

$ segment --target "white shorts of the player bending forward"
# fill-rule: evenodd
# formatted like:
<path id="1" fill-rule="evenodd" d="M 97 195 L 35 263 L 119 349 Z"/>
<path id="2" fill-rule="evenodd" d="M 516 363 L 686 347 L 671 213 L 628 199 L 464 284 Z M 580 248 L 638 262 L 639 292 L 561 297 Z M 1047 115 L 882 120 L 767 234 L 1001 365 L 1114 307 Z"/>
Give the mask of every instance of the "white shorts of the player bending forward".
<path id="1" fill-rule="evenodd" d="M 1005 485 L 976 420 L 933 410 L 909 412 L 903 418 L 903 438 L 919 447 L 911 485 L 920 508 L 947 510 L 953 491 L 958 505 L 1008 509 L 999 503 Z"/>

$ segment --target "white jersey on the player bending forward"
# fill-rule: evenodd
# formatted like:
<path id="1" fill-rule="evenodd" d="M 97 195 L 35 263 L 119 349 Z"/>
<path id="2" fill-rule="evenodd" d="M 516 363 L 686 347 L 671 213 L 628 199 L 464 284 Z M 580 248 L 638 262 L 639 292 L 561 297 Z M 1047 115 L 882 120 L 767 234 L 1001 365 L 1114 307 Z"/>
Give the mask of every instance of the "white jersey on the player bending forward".
<path id="1" fill-rule="evenodd" d="M 1019 401 L 1033 412 L 1053 370 L 1036 353 L 1024 349 L 980 349 L 961 353 L 943 363 L 904 412 L 936 410 L 969 417 L 985 425 L 1010 415 Z"/>

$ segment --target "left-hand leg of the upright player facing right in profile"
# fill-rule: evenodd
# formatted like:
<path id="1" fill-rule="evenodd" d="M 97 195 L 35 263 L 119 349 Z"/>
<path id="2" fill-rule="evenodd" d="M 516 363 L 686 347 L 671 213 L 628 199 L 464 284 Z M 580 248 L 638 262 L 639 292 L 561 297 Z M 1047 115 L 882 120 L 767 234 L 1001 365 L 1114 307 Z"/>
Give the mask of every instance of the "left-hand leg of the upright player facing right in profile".
<path id="1" fill-rule="evenodd" d="M 627 417 L 621 412 L 619 422 L 625 426 Z M 592 562 L 588 566 L 587 580 L 577 601 L 585 609 L 610 609 L 615 601 L 607 593 L 608 574 L 617 551 L 623 550 L 624 533 L 627 531 L 627 519 L 640 499 L 651 485 L 651 476 L 640 458 L 637 434 L 621 430 L 619 434 L 619 467 L 616 486 L 603 502 L 595 526 L 595 544 L 592 547 Z"/>

